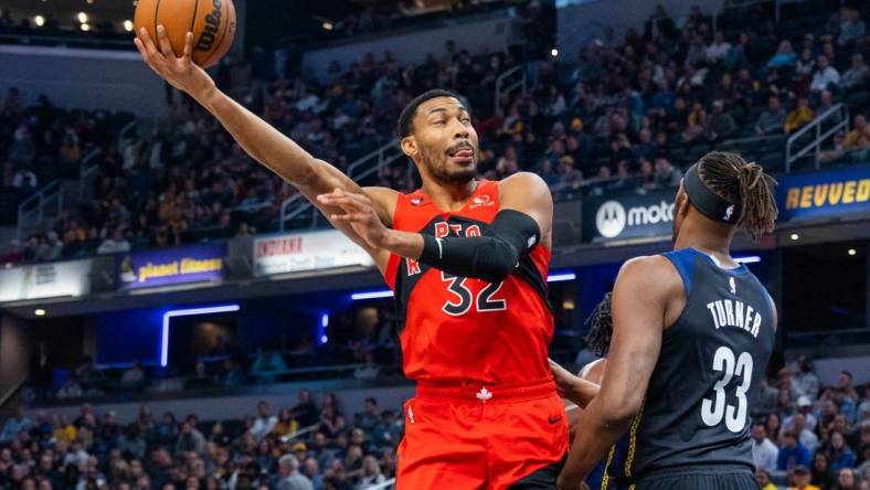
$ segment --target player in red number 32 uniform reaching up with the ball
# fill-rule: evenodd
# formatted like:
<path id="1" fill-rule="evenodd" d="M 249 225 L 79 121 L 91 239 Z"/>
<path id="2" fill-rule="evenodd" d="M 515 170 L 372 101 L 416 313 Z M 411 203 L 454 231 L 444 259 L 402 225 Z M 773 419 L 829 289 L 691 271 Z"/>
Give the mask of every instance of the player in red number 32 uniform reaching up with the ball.
<path id="1" fill-rule="evenodd" d="M 135 41 L 145 62 L 298 188 L 393 288 L 404 371 L 418 383 L 405 406 L 399 490 L 553 488 L 567 427 L 547 360 L 553 203 L 543 180 L 476 179 L 469 110 L 456 94 L 432 90 L 399 121 L 423 188 L 360 188 L 221 93 L 191 62 L 191 35 L 176 57 L 166 30 L 157 32 L 157 44 L 145 30 Z M 586 387 L 581 401 L 597 388 Z"/>

